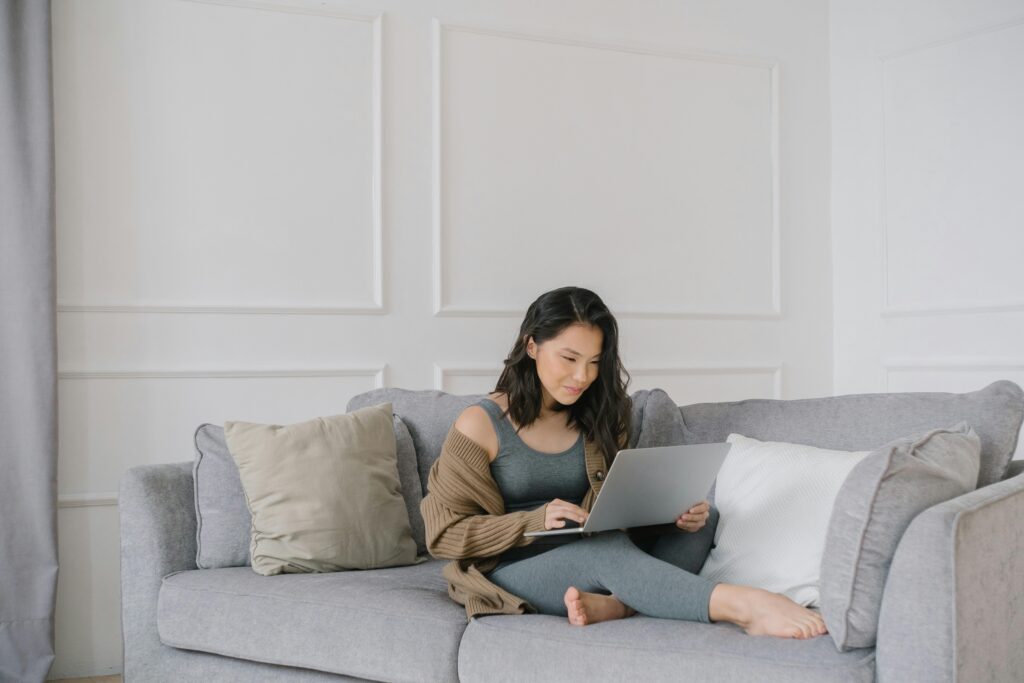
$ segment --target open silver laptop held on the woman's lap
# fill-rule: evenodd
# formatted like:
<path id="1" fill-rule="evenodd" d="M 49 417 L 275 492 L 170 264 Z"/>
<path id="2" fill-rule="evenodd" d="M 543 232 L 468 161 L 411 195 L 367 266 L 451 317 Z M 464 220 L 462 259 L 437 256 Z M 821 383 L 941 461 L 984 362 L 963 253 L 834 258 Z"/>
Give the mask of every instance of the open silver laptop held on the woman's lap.
<path id="1" fill-rule="evenodd" d="M 615 456 L 583 526 L 524 536 L 584 533 L 674 522 L 708 497 L 731 443 L 625 449 Z"/>

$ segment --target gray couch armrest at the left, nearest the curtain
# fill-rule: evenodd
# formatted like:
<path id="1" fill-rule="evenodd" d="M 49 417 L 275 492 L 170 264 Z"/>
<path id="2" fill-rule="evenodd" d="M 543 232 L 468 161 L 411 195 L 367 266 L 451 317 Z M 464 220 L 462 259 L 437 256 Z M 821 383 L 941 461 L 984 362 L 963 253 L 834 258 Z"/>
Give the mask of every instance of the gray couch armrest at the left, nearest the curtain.
<path id="1" fill-rule="evenodd" d="M 121 477 L 121 635 L 125 680 L 146 680 L 163 647 L 157 633 L 161 580 L 196 568 L 193 463 L 132 467 Z"/>

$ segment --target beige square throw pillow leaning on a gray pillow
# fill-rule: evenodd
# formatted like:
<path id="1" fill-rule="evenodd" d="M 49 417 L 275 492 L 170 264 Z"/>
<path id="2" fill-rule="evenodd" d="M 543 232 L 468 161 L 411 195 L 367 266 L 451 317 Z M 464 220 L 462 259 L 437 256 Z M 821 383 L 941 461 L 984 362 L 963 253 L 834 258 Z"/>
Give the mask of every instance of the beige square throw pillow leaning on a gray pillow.
<path id="1" fill-rule="evenodd" d="M 225 422 L 252 514 L 257 573 L 417 562 L 391 403 L 293 425 Z"/>

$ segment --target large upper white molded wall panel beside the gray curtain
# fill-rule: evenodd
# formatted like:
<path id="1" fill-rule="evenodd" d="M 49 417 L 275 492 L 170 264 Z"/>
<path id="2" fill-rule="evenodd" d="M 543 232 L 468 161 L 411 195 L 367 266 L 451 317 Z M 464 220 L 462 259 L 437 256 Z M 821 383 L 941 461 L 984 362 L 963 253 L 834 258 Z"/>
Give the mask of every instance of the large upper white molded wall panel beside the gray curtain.
<path id="1" fill-rule="evenodd" d="M 58 310 L 382 312 L 379 14 L 54 13 Z"/>

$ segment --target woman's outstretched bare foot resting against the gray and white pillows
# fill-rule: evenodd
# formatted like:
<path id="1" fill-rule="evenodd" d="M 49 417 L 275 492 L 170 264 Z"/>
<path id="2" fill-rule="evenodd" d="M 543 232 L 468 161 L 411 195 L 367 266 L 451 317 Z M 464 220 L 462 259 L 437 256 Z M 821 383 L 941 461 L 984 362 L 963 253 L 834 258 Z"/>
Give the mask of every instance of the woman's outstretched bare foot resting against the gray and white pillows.
<path id="1" fill-rule="evenodd" d="M 814 638 L 827 633 L 824 620 L 780 595 L 760 588 L 719 584 L 711 594 L 711 621 L 731 622 L 752 636 Z"/>

